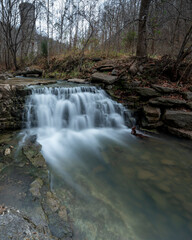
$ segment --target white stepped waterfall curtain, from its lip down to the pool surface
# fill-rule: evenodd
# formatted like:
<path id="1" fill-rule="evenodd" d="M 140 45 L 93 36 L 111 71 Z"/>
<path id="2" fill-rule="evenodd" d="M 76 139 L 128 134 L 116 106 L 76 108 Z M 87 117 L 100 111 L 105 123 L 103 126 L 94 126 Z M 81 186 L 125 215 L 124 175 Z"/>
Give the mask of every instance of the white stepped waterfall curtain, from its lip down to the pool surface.
<path id="1" fill-rule="evenodd" d="M 26 115 L 27 128 L 80 131 L 131 126 L 129 111 L 96 87 L 33 88 L 26 104 Z"/>

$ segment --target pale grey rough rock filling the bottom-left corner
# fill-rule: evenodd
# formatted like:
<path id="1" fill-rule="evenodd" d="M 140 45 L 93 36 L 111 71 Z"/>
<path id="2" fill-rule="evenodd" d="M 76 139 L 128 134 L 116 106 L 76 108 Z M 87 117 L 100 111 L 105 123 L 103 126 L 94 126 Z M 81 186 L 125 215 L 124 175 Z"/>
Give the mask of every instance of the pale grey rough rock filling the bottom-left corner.
<path id="1" fill-rule="evenodd" d="M 0 215 L 1 240 L 38 239 L 54 240 L 46 228 L 39 228 L 18 210 L 6 208 Z"/>

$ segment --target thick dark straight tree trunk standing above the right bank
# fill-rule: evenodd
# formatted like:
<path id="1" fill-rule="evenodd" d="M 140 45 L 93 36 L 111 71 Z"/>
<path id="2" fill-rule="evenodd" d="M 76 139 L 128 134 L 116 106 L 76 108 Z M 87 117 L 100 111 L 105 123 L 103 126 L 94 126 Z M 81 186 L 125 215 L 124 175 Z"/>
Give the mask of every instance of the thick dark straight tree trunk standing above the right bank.
<path id="1" fill-rule="evenodd" d="M 147 17 L 151 0 L 141 0 L 137 40 L 137 57 L 147 56 Z"/>

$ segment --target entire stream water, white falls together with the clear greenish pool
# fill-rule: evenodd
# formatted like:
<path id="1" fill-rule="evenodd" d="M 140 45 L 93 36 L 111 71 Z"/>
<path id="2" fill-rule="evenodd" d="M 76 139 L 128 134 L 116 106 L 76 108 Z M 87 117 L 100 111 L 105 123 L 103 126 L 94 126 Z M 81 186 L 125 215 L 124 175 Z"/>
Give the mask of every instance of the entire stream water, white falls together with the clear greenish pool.
<path id="1" fill-rule="evenodd" d="M 38 88 L 26 104 L 75 240 L 191 240 L 192 149 L 137 139 L 129 111 L 95 87 Z"/>

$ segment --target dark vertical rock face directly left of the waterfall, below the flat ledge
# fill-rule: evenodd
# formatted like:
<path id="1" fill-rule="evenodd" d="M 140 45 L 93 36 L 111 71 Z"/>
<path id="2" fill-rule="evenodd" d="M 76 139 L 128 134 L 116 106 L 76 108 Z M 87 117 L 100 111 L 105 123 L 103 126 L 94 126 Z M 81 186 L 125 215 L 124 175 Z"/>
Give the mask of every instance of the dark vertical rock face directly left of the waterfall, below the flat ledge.
<path id="1" fill-rule="evenodd" d="M 22 86 L 0 84 L 0 131 L 20 129 L 25 97 L 29 90 Z"/>

